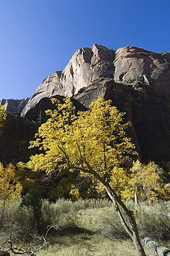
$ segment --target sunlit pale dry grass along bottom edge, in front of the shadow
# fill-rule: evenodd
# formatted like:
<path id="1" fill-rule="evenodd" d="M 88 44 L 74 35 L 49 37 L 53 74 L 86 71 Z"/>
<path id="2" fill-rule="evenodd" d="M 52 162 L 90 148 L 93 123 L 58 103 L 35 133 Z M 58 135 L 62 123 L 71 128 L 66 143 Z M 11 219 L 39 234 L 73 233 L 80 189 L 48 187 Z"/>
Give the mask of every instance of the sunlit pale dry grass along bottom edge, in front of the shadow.
<path id="1" fill-rule="evenodd" d="M 145 250 L 148 256 L 153 256 Z M 75 235 L 56 239 L 51 248 L 38 253 L 39 256 L 138 256 L 133 243 L 115 240 L 102 235 Z"/>

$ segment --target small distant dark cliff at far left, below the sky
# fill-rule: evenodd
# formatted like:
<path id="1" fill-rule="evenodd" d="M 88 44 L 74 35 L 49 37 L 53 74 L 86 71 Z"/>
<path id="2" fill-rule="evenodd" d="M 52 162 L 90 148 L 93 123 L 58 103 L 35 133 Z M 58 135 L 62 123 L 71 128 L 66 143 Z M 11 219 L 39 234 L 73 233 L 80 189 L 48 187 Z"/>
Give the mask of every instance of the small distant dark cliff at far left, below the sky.
<path id="1" fill-rule="evenodd" d="M 29 98 L 22 100 L 3 99 L 0 100 L 0 107 L 5 106 L 7 113 L 19 113 L 21 114 L 23 108 L 25 108 Z"/>

